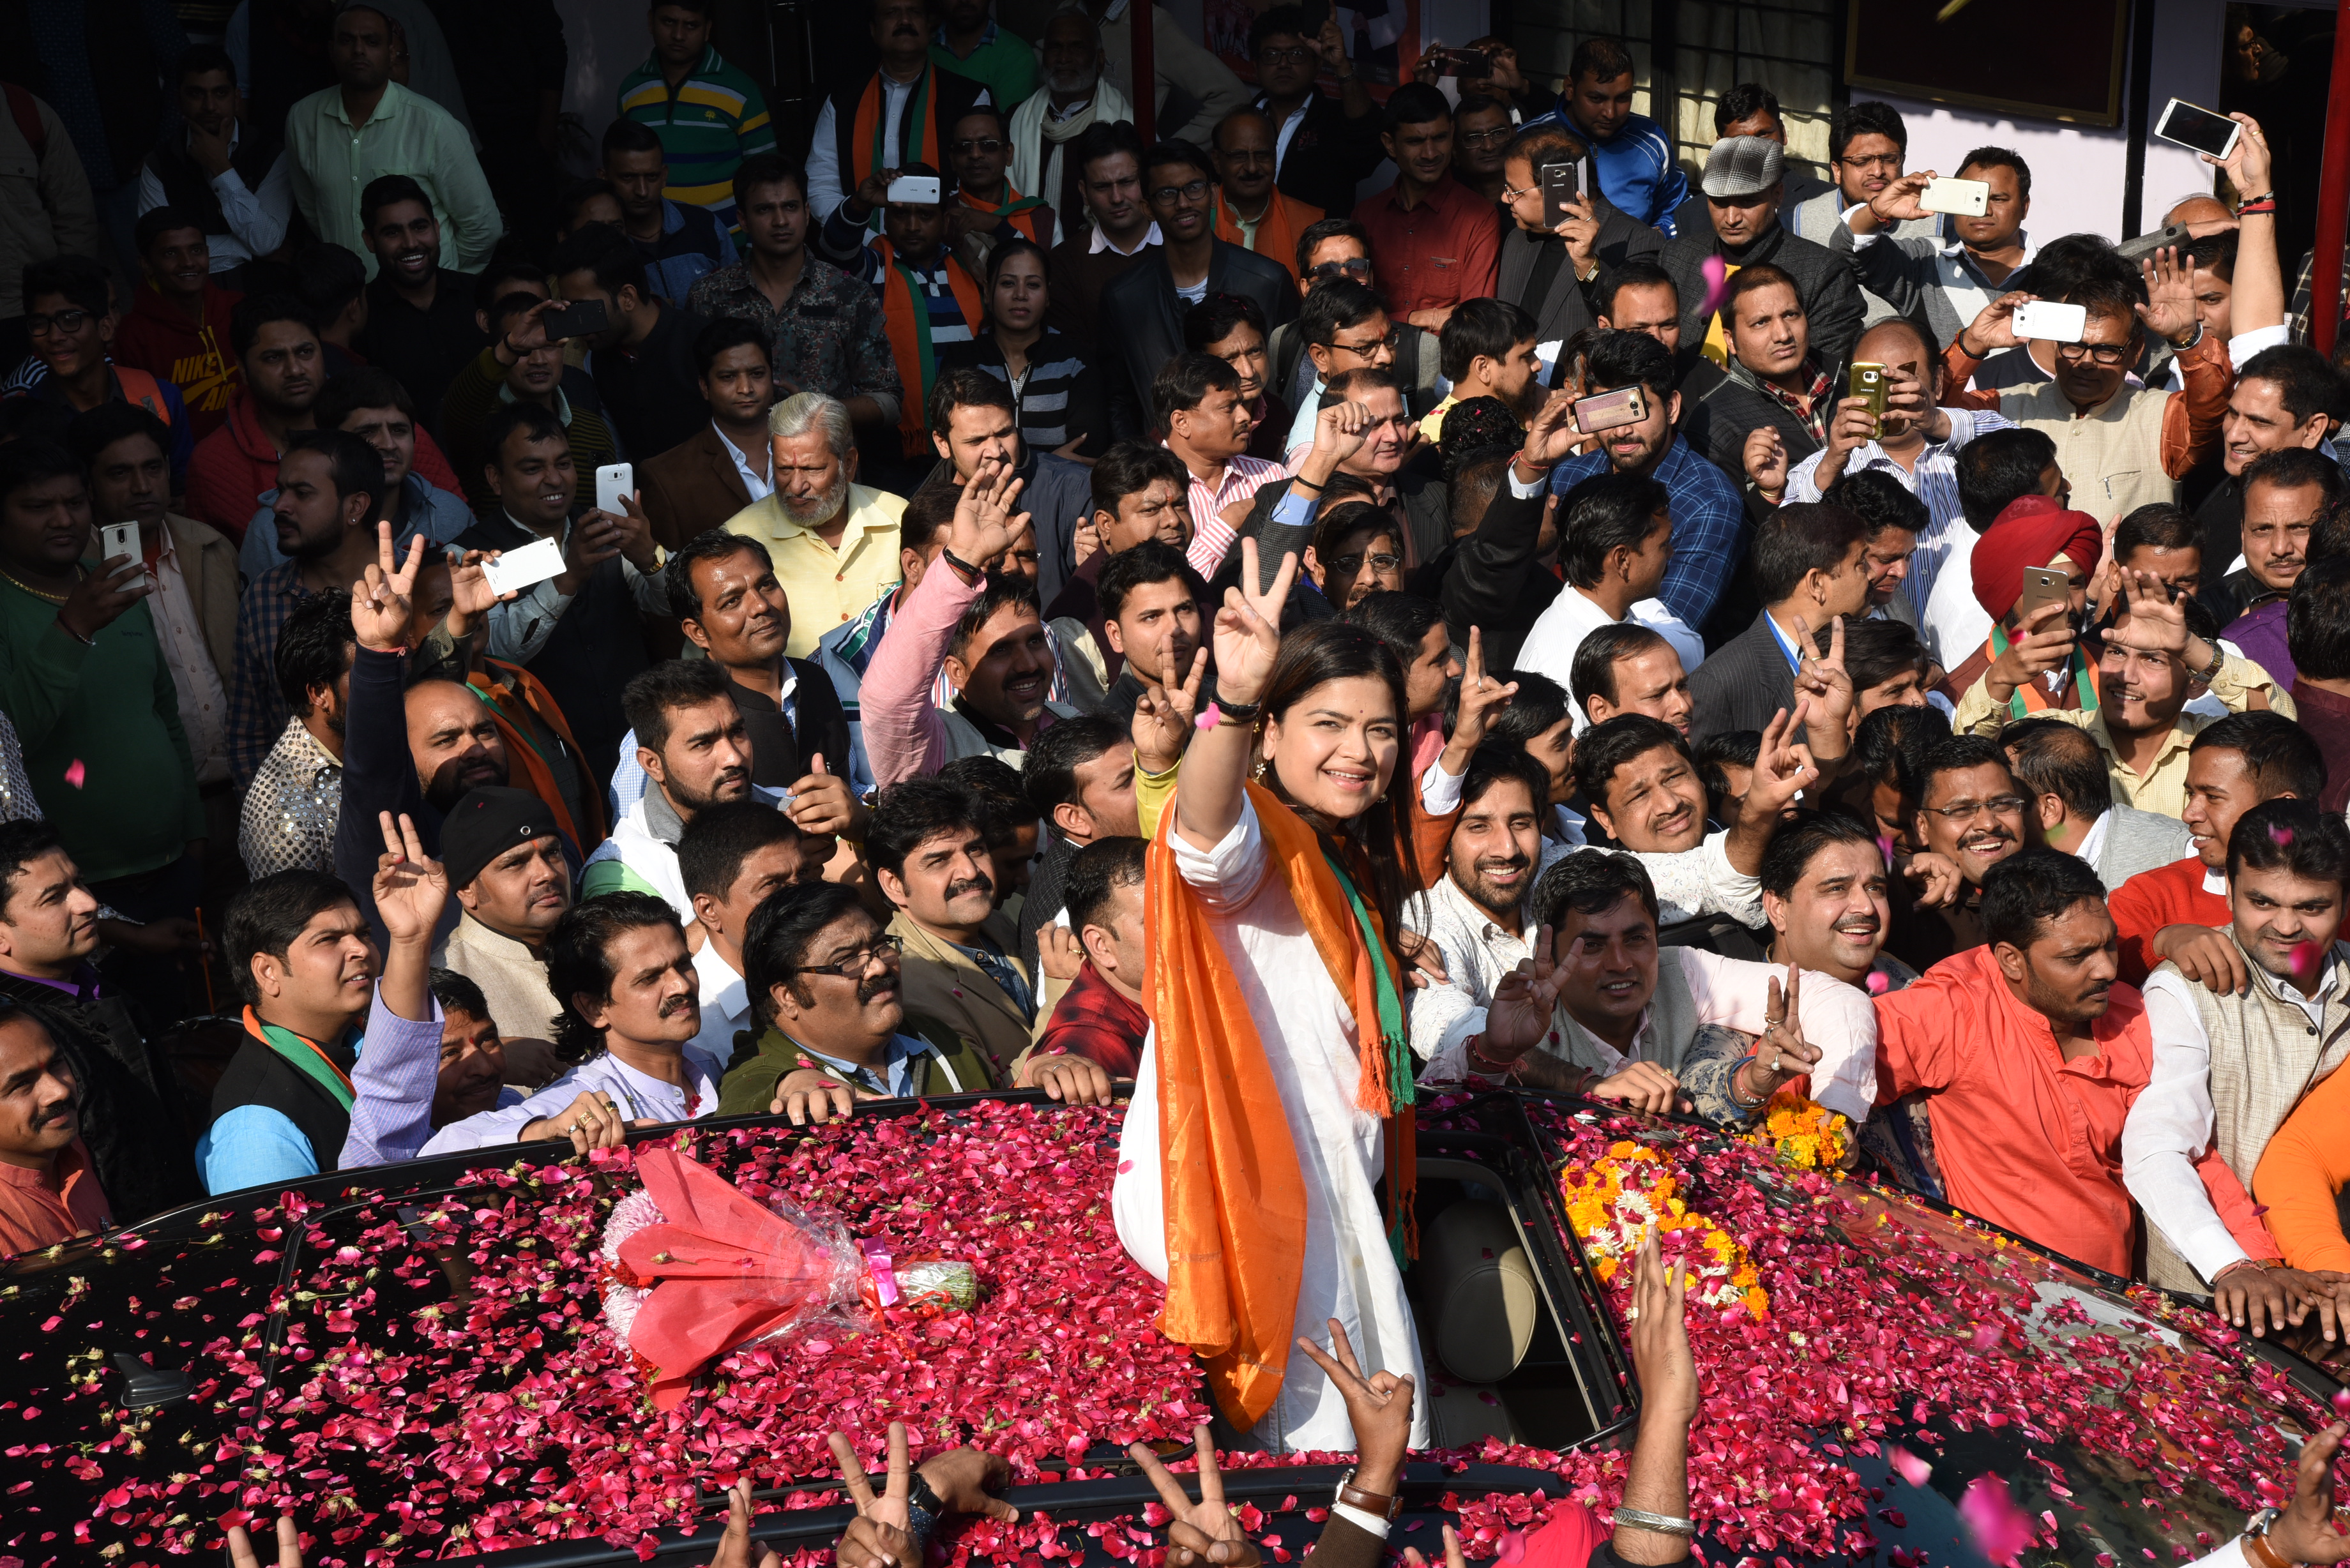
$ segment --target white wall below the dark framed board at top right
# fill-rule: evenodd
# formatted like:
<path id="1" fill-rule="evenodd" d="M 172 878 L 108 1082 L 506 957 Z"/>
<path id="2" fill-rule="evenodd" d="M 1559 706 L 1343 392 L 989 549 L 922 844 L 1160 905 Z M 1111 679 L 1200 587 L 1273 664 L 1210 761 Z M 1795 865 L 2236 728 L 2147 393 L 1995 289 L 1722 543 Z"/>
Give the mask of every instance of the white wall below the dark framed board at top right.
<path id="1" fill-rule="evenodd" d="M 2160 0 L 2148 115 L 2160 115 L 2174 96 L 2204 106 L 2218 103 L 2223 9 L 2225 0 Z M 2122 89 L 2129 92 L 2127 63 Z M 1854 89 L 1854 96 L 1873 94 Z M 2033 169 L 2033 212 L 2023 228 L 2035 240 L 2082 230 L 2110 240 L 2129 237 L 2122 233 L 2122 179 L 2129 155 L 2124 129 L 1993 115 L 1896 96 L 1885 96 L 1885 101 L 1908 120 L 1911 169 L 1958 174 L 1960 160 L 1986 143 L 2021 153 Z M 2211 190 L 2211 167 L 2186 148 L 2150 139 L 2141 228 L 2160 223 L 2171 202 L 2195 190 Z"/>

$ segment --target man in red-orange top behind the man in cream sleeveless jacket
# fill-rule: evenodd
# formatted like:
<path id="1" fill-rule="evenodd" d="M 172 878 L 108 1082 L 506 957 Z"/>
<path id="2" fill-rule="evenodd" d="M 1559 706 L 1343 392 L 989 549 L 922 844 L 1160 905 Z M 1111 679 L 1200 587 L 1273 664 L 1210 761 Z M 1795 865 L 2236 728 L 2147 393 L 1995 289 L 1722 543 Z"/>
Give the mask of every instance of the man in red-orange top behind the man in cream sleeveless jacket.
<path id="1" fill-rule="evenodd" d="M 2244 964 L 2223 929 L 2228 835 L 2265 799 L 2317 799 L 2326 759 L 2298 724 L 2277 712 L 2230 712 L 2188 748 L 2188 804 L 2181 818 L 2195 856 L 2138 872 L 2113 893 L 2122 938 L 2122 980 L 2146 985 L 2162 959 L 2214 990 L 2242 990 Z"/>

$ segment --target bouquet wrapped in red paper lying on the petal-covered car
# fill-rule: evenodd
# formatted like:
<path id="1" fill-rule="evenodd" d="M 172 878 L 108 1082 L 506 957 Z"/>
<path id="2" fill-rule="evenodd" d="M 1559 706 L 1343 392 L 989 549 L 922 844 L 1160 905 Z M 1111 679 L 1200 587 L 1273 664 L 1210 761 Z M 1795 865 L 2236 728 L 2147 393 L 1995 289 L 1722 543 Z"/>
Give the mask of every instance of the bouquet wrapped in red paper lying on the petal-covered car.
<path id="1" fill-rule="evenodd" d="M 893 1260 L 827 1211 L 757 1204 L 677 1150 L 637 1154 L 644 1190 L 604 1222 L 604 1321 L 667 1410 L 703 1366 L 785 1333 L 865 1328 L 872 1312 L 924 1316 L 978 1302 L 954 1260 Z"/>

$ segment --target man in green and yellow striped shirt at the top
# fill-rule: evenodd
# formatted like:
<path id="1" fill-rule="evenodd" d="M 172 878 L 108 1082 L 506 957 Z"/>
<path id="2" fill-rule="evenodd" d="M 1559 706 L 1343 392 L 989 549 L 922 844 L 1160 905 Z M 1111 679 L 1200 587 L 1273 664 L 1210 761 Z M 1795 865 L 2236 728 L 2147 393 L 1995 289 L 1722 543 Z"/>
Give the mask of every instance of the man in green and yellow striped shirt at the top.
<path id="1" fill-rule="evenodd" d="M 745 158 L 776 150 L 759 82 L 710 47 L 717 0 L 656 0 L 646 14 L 653 52 L 620 82 L 620 113 L 660 136 L 670 165 L 663 195 L 707 207 L 740 240 L 733 174 Z"/>

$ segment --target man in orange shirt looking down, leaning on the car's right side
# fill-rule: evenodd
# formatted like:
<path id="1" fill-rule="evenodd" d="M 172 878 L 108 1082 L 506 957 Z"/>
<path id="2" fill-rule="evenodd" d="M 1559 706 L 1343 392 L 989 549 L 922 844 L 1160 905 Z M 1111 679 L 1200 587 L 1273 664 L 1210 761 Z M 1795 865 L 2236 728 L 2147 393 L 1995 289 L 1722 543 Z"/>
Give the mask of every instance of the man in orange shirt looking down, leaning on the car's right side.
<path id="1" fill-rule="evenodd" d="M 2122 1124 L 2153 1072 L 2138 992 L 2087 860 L 2026 849 L 1983 875 L 1986 945 L 1875 999 L 1878 1105 L 1920 1093 L 1950 1204 L 2129 1276 L 2138 1215 Z M 2244 1185 L 2197 1161 L 2244 1251 L 2275 1255 Z"/>

